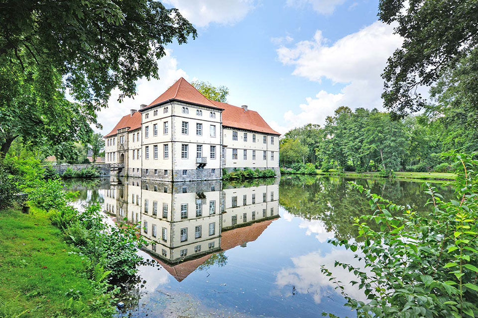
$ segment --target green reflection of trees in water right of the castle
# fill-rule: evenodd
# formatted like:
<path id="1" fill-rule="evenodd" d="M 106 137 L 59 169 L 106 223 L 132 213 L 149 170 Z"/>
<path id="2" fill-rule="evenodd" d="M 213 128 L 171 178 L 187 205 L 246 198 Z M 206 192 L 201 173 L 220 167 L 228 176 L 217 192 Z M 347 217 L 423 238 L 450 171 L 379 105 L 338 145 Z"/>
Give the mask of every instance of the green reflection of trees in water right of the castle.
<path id="1" fill-rule="evenodd" d="M 279 185 L 279 203 L 289 213 L 307 220 L 322 221 L 329 232 L 338 239 L 350 239 L 358 235 L 353 226 L 354 218 L 370 214 L 368 199 L 351 188 L 348 181 L 377 193 L 396 204 L 410 206 L 417 211 L 431 211 L 425 207 L 429 196 L 424 193 L 425 183 L 388 179 L 346 179 L 344 177 L 292 177 L 283 178 Z M 445 199 L 453 196 L 453 190 L 434 184 Z"/>

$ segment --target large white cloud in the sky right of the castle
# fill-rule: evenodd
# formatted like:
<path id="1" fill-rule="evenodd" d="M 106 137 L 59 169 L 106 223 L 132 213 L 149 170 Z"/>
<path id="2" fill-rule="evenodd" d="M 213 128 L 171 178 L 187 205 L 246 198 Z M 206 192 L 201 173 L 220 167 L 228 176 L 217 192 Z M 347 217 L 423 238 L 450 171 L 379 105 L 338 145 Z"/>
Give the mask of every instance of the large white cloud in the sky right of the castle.
<path id="1" fill-rule="evenodd" d="M 284 127 L 310 122 L 323 124 L 339 106 L 381 108 L 380 74 L 388 57 L 401 43 L 401 37 L 393 34 L 393 26 L 376 21 L 331 45 L 318 30 L 313 40 L 298 42 L 292 48 L 279 47 L 278 59 L 284 65 L 295 67 L 293 75 L 345 84 L 339 93 L 321 90 L 314 97 L 307 97 L 306 103 L 299 105 L 301 112 L 284 114 L 287 122 Z"/>

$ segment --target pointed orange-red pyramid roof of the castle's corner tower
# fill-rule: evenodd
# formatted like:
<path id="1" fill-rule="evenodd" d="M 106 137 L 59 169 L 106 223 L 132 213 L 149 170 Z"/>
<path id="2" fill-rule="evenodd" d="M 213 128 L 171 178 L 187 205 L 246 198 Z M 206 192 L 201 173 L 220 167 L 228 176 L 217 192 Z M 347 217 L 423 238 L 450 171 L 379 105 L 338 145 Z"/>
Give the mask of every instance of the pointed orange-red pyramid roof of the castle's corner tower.
<path id="1" fill-rule="evenodd" d="M 180 78 L 147 107 L 142 108 L 142 110 L 170 99 L 182 100 L 212 108 L 220 108 L 214 105 L 209 99 L 204 97 L 196 88 L 194 88 L 193 85 L 188 83 L 186 79 Z"/>

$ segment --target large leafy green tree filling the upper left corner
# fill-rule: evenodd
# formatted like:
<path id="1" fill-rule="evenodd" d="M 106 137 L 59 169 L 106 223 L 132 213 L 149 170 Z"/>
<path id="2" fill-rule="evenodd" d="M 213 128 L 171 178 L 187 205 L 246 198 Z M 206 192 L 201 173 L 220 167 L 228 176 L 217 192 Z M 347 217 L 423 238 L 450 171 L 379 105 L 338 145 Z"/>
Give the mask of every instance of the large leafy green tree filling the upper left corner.
<path id="1" fill-rule="evenodd" d="M 86 141 L 112 89 L 119 101 L 133 96 L 136 79 L 158 78 L 165 45 L 191 35 L 191 23 L 159 1 L 2 1 L 0 156 L 18 136 Z"/>

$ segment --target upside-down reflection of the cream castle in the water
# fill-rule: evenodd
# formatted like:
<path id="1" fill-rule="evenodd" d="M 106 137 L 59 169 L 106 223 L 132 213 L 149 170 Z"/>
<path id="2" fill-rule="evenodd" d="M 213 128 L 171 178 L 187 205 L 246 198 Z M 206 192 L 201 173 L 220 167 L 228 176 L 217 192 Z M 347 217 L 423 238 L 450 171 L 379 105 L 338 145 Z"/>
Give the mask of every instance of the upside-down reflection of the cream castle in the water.
<path id="1" fill-rule="evenodd" d="M 254 241 L 279 217 L 279 179 L 233 187 L 222 181 L 112 180 L 105 211 L 140 224 L 144 250 L 182 281 L 214 254 Z"/>

